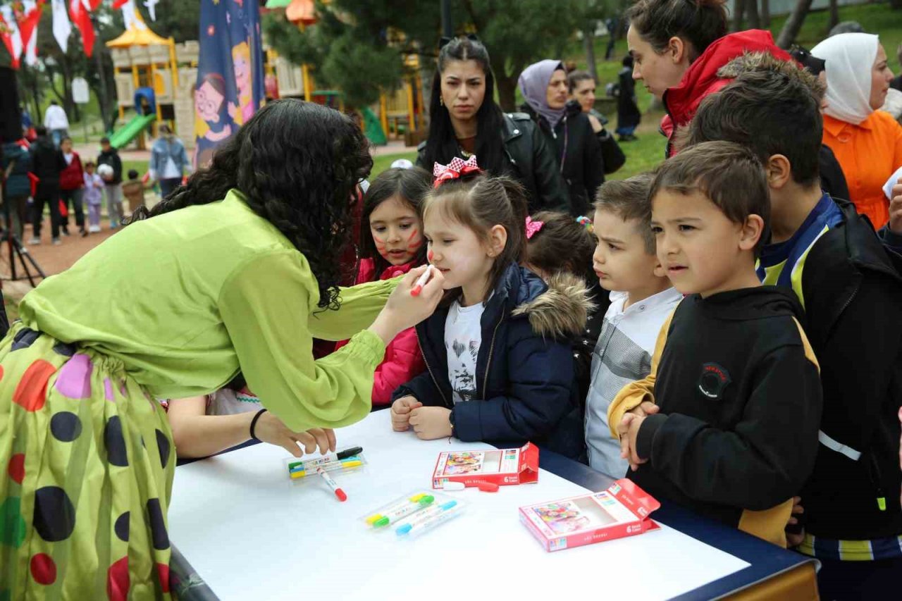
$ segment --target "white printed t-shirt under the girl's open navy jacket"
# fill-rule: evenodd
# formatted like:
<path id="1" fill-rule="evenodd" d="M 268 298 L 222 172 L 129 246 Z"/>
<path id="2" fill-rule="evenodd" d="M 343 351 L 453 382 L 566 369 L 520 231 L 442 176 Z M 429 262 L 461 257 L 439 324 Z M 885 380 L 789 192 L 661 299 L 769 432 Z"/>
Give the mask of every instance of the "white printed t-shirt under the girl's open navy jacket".
<path id="1" fill-rule="evenodd" d="M 448 356 L 448 382 L 455 404 L 476 398 L 476 357 L 483 341 L 480 319 L 485 305 L 477 302 L 461 307 L 454 301 L 445 320 L 445 349 Z"/>

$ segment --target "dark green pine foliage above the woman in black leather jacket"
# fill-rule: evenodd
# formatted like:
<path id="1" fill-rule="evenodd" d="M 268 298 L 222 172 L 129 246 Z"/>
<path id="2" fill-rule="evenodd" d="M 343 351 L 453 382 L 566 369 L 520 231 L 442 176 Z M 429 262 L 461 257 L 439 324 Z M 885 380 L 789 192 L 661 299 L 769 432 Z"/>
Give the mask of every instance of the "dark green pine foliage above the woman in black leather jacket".
<path id="1" fill-rule="evenodd" d="M 300 31 L 281 11 L 266 14 L 263 29 L 287 59 L 306 62 L 325 85 L 340 88 L 352 106 L 371 104 L 380 90 L 400 85 L 403 55 L 415 52 L 432 68 L 441 32 L 440 6 L 423 0 L 318 2 L 319 22 Z M 590 11 L 594 11 L 590 15 Z M 514 108 L 520 71 L 560 57 L 598 3 L 585 0 L 453 0 L 456 33 L 476 33 L 492 56 L 502 107 Z"/>

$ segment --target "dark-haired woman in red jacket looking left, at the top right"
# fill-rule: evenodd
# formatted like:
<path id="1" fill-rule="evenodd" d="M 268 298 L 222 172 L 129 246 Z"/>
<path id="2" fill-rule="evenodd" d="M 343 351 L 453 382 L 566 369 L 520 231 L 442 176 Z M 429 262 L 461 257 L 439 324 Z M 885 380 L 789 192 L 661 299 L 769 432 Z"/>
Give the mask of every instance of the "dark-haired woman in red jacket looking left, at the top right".
<path id="1" fill-rule="evenodd" d="M 746 51 L 790 60 L 770 32 L 727 35 L 724 0 L 639 0 L 627 18 L 632 79 L 664 103 L 661 131 L 667 135 L 668 157 L 675 154 L 669 141 L 676 128 L 692 121 L 704 97 L 729 83 L 717 75 L 724 65 Z"/>

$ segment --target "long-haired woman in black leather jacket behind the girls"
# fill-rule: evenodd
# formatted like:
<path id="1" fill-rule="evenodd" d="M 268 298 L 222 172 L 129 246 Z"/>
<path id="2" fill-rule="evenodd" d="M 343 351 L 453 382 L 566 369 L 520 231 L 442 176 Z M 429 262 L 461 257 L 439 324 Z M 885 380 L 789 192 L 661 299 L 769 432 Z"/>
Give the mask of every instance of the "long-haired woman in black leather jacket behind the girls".
<path id="1" fill-rule="evenodd" d="M 456 38 L 438 53 L 429 103 L 429 135 L 417 164 L 432 169 L 456 157 L 478 157 L 494 175 L 510 175 L 529 194 L 529 211 L 570 212 L 569 195 L 545 136 L 528 115 L 505 114 L 493 99 L 494 75 L 481 42 Z"/>

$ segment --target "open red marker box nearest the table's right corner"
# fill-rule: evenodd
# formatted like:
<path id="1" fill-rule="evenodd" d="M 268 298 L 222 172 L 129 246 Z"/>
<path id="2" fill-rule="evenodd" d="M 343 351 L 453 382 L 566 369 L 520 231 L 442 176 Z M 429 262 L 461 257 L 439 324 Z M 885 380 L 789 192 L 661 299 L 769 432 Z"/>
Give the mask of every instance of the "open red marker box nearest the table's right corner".
<path id="1" fill-rule="evenodd" d="M 600 493 L 520 507 L 520 522 L 545 550 L 556 551 L 656 530 L 649 514 L 660 506 L 623 478 Z"/>

